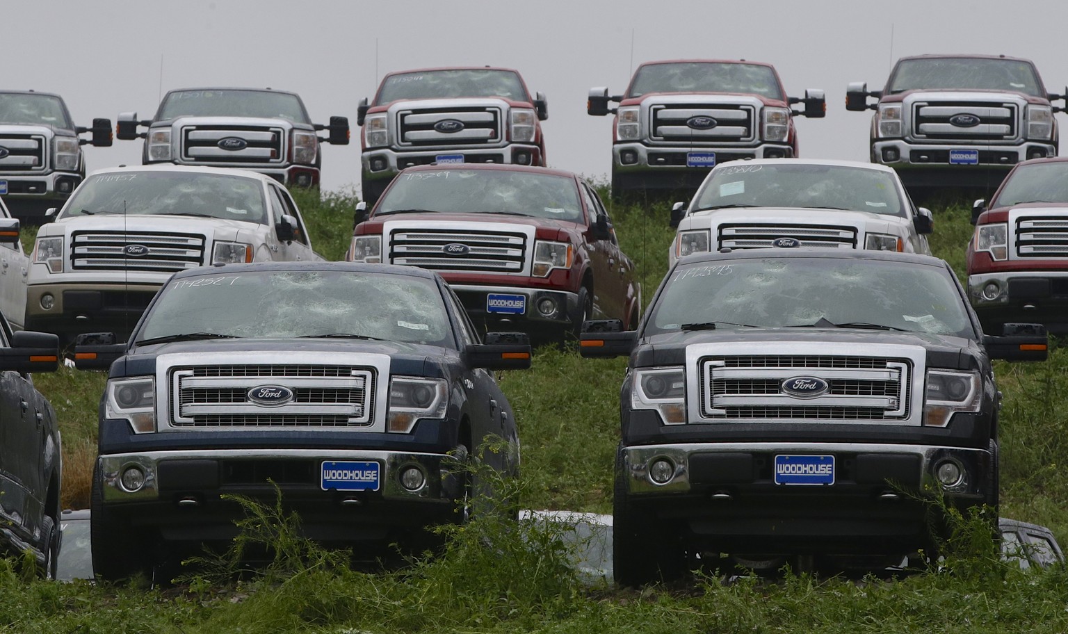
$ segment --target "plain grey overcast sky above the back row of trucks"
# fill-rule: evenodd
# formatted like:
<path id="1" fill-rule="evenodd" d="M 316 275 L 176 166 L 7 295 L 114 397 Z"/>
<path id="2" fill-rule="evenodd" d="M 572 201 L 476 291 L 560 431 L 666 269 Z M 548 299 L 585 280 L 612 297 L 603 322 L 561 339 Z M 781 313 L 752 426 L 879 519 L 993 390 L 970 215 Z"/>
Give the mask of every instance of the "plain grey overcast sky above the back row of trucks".
<path id="1" fill-rule="evenodd" d="M 0 0 L 5 89 L 54 92 L 75 123 L 136 111 L 187 86 L 271 86 L 301 95 L 315 123 L 348 116 L 352 144 L 325 145 L 323 186 L 360 183 L 356 108 L 387 72 L 443 65 L 517 68 L 549 100 L 554 168 L 607 178 L 611 117 L 588 89 L 626 88 L 644 61 L 770 62 L 786 91 L 827 92 L 827 118 L 799 117 L 800 153 L 867 160 L 870 113 L 847 112 L 850 81 L 881 89 L 896 58 L 1003 53 L 1034 60 L 1047 91 L 1068 83 L 1066 0 Z M 1057 102 L 1064 106 L 1064 102 Z M 1061 126 L 1068 115 L 1058 114 Z M 1063 134 L 1064 137 L 1064 134 Z M 1068 141 L 1068 137 L 1066 137 Z M 138 164 L 142 141 L 87 148 L 90 170 Z M 1064 152 L 1068 152 L 1068 147 Z"/>

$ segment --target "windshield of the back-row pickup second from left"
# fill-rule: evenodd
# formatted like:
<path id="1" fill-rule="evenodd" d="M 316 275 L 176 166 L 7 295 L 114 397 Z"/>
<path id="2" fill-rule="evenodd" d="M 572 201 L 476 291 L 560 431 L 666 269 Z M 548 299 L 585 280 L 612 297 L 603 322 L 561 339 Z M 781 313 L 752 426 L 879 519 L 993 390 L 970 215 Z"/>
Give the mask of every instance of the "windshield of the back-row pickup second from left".
<path id="1" fill-rule="evenodd" d="M 156 121 L 179 116 L 284 118 L 311 125 L 304 105 L 297 95 L 273 91 L 173 91 L 159 105 Z"/>

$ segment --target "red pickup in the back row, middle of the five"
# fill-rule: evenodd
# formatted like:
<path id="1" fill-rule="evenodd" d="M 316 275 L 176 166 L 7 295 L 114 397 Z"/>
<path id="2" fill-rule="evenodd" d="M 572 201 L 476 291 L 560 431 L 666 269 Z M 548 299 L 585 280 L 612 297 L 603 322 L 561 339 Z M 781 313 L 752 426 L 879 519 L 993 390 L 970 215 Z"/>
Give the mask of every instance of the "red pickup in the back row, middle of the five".
<path id="1" fill-rule="evenodd" d="M 390 73 L 362 99 L 362 199 L 373 206 L 405 168 L 430 163 L 545 167 L 549 105 L 517 70 L 490 66 Z"/>

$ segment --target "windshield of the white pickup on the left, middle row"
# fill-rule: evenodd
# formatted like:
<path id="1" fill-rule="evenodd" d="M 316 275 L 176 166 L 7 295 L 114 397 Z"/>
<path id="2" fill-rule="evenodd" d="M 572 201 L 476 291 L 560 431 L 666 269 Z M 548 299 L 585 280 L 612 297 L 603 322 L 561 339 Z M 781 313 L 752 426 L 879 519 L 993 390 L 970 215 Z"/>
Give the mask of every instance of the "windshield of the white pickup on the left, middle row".
<path id="1" fill-rule="evenodd" d="M 93 174 L 63 207 L 60 218 L 204 216 L 267 223 L 263 186 L 255 178 L 197 172 L 107 172 Z"/>

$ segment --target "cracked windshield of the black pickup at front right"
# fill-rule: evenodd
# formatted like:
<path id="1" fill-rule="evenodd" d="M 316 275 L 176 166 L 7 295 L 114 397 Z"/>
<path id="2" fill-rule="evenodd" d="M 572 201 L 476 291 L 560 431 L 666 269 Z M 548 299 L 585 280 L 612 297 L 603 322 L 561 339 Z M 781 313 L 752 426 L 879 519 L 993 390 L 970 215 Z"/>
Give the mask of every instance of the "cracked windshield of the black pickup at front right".
<path id="1" fill-rule="evenodd" d="M 871 328 L 974 338 L 947 269 L 834 257 L 682 264 L 664 283 L 645 333 L 740 328 Z"/>

